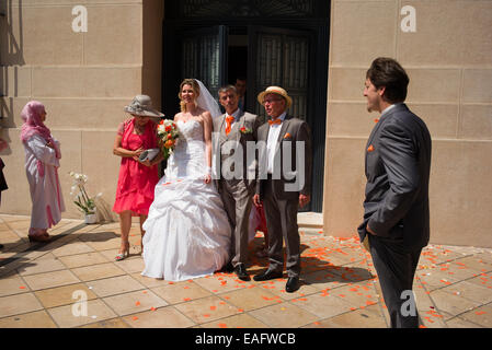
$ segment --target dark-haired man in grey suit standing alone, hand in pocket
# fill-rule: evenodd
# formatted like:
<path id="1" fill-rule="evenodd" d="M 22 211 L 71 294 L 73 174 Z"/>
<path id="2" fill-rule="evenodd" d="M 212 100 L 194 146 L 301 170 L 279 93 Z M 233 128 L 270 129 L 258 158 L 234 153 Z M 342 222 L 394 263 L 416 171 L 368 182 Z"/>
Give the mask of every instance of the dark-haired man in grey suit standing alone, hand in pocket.
<path id="1" fill-rule="evenodd" d="M 381 116 L 366 145 L 367 185 L 358 233 L 373 256 L 393 328 L 419 326 L 412 284 L 430 237 L 431 135 L 403 103 L 408 84 L 396 60 L 377 58 L 364 89 L 367 110 Z"/>

